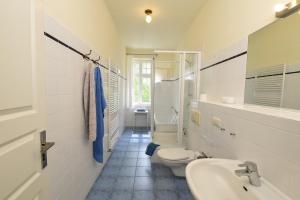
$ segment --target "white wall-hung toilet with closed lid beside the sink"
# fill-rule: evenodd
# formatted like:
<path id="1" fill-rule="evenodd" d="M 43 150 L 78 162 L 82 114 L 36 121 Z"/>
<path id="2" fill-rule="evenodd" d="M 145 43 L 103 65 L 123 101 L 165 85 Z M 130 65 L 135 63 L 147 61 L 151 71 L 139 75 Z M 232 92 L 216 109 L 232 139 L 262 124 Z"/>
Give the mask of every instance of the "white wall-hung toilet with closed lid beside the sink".
<path id="1" fill-rule="evenodd" d="M 184 148 L 163 148 L 157 151 L 161 162 L 170 167 L 175 176 L 185 177 L 186 165 L 197 159 L 200 152 Z"/>

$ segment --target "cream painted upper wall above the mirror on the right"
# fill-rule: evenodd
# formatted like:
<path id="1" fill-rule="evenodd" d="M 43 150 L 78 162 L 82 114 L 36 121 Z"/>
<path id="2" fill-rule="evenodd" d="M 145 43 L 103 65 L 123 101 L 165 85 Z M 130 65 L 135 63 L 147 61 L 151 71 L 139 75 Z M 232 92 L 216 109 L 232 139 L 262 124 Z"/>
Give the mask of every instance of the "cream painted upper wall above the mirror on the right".
<path id="1" fill-rule="evenodd" d="M 200 50 L 210 58 L 274 21 L 274 6 L 284 2 L 290 0 L 208 0 L 178 48 Z"/>

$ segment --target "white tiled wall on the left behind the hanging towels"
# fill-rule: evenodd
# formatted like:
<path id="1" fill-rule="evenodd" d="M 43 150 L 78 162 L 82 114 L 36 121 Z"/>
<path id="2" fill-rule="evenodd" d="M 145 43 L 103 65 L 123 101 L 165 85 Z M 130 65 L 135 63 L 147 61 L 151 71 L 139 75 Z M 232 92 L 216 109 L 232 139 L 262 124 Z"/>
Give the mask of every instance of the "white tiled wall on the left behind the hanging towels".
<path id="1" fill-rule="evenodd" d="M 91 48 L 52 18 L 46 17 L 45 30 L 80 51 L 88 52 Z M 97 58 L 97 55 L 93 57 Z M 104 60 L 102 64 L 107 65 Z M 82 88 L 87 62 L 80 55 L 45 37 L 45 65 L 47 140 L 55 142 L 55 146 L 48 151 L 49 164 L 44 170 L 44 177 L 49 183 L 45 186 L 45 199 L 83 200 L 103 167 L 93 159 L 92 142 L 88 141 L 84 128 Z M 104 72 L 103 69 L 102 76 Z M 105 130 L 107 136 L 106 127 Z M 106 152 L 105 158 L 108 156 Z"/>

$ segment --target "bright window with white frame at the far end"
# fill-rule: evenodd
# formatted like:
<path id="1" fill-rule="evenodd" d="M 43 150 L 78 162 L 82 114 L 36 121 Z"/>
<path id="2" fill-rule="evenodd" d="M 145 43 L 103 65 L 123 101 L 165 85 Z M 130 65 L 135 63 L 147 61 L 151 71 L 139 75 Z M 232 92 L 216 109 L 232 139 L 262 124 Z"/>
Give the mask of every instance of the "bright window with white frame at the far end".
<path id="1" fill-rule="evenodd" d="M 133 60 L 132 62 L 132 104 L 150 104 L 151 102 L 151 60 Z"/>

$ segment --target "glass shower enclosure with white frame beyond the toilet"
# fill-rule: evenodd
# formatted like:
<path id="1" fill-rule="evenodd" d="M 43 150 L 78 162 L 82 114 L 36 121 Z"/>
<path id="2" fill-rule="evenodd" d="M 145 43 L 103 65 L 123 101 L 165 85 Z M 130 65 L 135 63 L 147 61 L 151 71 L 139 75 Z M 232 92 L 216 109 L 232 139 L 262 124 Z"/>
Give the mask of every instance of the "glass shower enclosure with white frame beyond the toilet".
<path id="1" fill-rule="evenodd" d="M 197 98 L 200 52 L 156 51 L 152 71 L 154 141 L 184 145 L 190 102 Z"/>

